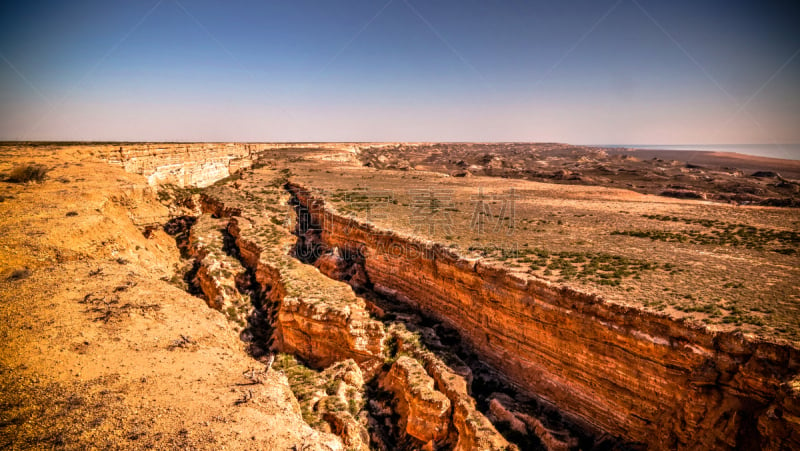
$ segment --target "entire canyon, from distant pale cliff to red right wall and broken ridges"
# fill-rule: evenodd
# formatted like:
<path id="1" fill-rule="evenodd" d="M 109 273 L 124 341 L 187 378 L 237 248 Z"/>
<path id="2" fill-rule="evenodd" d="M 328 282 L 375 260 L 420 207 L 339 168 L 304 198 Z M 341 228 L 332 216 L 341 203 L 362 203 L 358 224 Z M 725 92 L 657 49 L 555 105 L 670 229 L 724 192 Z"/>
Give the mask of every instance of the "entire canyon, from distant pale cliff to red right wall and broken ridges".
<path id="1" fill-rule="evenodd" d="M 219 311 L 246 358 L 284 381 L 270 383 L 305 421 L 291 428 L 319 449 L 800 447 L 791 341 L 612 302 L 350 214 L 309 184 L 331 169 L 372 177 L 359 149 L 392 145 L 64 152 L 161 197 L 157 213 L 135 211 L 172 224 L 171 237 L 143 232 L 176 241 L 176 276 L 203 298 L 188 299 Z"/>

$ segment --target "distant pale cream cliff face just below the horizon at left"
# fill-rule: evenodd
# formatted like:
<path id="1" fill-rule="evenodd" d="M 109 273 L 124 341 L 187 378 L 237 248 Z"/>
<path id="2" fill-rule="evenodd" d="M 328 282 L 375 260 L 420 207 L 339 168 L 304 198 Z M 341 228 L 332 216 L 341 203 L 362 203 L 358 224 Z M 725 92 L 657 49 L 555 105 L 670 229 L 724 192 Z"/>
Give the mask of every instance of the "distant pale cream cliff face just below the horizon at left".
<path id="1" fill-rule="evenodd" d="M 206 187 L 252 166 L 265 148 L 246 143 L 137 143 L 97 146 L 93 152 L 107 163 L 145 176 L 152 186 Z"/>

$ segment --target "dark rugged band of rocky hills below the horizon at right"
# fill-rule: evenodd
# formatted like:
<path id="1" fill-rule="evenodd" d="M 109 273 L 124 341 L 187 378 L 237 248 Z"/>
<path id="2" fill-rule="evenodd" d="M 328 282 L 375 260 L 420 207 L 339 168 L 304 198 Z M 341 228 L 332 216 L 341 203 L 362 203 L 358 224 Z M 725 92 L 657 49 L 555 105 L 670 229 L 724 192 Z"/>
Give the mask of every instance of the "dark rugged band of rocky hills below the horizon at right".
<path id="1" fill-rule="evenodd" d="M 557 143 L 398 143 L 359 146 L 358 158 L 376 169 L 615 186 L 667 197 L 800 206 L 797 162 L 725 152 Z"/>

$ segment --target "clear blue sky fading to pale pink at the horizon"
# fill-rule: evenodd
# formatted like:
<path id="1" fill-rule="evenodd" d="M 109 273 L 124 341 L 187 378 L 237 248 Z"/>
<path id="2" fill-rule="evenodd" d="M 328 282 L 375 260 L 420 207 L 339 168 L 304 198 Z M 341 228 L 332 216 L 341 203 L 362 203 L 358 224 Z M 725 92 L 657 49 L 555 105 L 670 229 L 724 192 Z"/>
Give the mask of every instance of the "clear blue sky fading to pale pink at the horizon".
<path id="1" fill-rule="evenodd" d="M 2 2 L 0 140 L 800 143 L 800 2 Z"/>

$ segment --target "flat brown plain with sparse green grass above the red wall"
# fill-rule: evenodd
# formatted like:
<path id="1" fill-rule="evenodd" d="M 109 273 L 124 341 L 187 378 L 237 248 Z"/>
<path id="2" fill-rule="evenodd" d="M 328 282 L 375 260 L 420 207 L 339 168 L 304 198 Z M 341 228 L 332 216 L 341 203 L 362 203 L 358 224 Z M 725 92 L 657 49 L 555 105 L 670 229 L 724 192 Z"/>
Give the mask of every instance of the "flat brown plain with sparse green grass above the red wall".
<path id="1" fill-rule="evenodd" d="M 659 216 L 649 214 L 653 206 L 642 199 L 616 198 L 591 187 L 571 189 L 558 185 L 556 188 L 528 185 L 527 182 L 523 186 L 523 183 L 499 178 L 443 178 L 424 171 L 375 172 L 363 168 L 350 170 L 346 166 L 334 169 L 330 162 L 307 158 L 291 165 L 294 173 L 291 181 L 315 190 L 344 216 L 353 215 L 381 229 L 438 242 L 464 256 L 468 256 L 472 246 L 479 255 L 502 262 L 508 268 L 527 270 L 613 302 L 723 324 L 722 319 L 730 316 L 725 302 L 737 301 L 746 306 L 761 298 L 767 299 L 769 308 L 775 309 L 774 313 L 754 315 L 763 319 L 767 329 L 788 327 L 790 333 L 794 333 L 795 326 L 800 328 L 800 320 L 793 312 L 773 305 L 774 300 L 795 299 L 798 295 L 791 283 L 798 272 L 791 265 L 800 251 L 797 243 L 800 221 L 796 220 L 796 215 L 792 216 L 793 210 L 765 213 L 749 208 L 732 210 L 728 206 L 700 207 L 681 203 L 659 206 Z M 287 167 L 287 158 L 276 156 L 272 167 L 275 169 L 254 172 L 240 183 L 239 189 L 224 190 L 223 194 L 231 205 L 234 198 L 239 204 L 247 205 L 243 208 L 249 212 L 243 213 L 244 216 L 262 218 L 253 224 L 249 235 L 264 247 L 285 244 L 287 240 L 283 224 L 271 219 L 276 217 L 272 209 L 285 199 L 282 182 L 288 177 L 282 176 L 288 171 L 280 169 Z M 482 186 L 490 195 L 505 193 L 510 186 L 515 186 L 520 194 L 515 214 L 501 211 L 500 203 L 492 204 L 489 214 L 482 216 L 485 229 L 474 230 L 470 223 L 475 213 L 476 186 Z M 418 204 L 411 190 L 429 188 L 453 192 L 452 202 L 444 199 L 446 204 L 429 209 L 447 213 L 453 221 L 451 229 L 437 226 L 435 231 L 427 227 L 418 230 L 411 223 Z M 584 202 L 586 196 L 596 195 L 602 195 L 604 201 Z M 510 222 L 514 222 L 516 228 L 508 234 L 504 227 Z M 498 223 L 503 227 L 496 228 Z M 676 235 L 665 236 L 672 241 L 624 239 L 612 235 L 615 231 L 654 228 Z M 687 230 L 694 230 L 698 236 L 686 234 L 683 237 Z M 686 241 L 680 242 L 681 239 Z M 772 241 L 763 243 L 770 239 Z M 709 244 L 698 244 L 709 240 L 711 243 L 722 241 L 731 251 L 708 249 Z M 737 242 L 725 244 L 725 241 Z M 753 245 L 760 245 L 761 249 Z M 513 249 L 531 251 L 514 252 Z M 735 259 L 730 258 L 733 252 Z M 295 271 L 277 253 L 274 260 L 281 271 Z M 744 260 L 752 263 L 743 264 Z M 754 277 L 752 265 L 759 268 L 759 277 L 770 280 L 769 285 L 750 283 Z M 735 286 L 725 287 L 727 283 Z M 300 287 L 297 290 L 313 291 L 300 282 L 292 285 Z M 670 290 L 662 291 L 662 288 Z M 684 297 L 687 293 L 691 293 L 693 299 Z M 707 304 L 716 305 L 719 311 Z M 746 308 L 743 311 L 750 314 Z M 758 319 L 749 319 L 758 322 Z M 749 331 L 761 327 L 743 319 L 740 324 Z"/>

